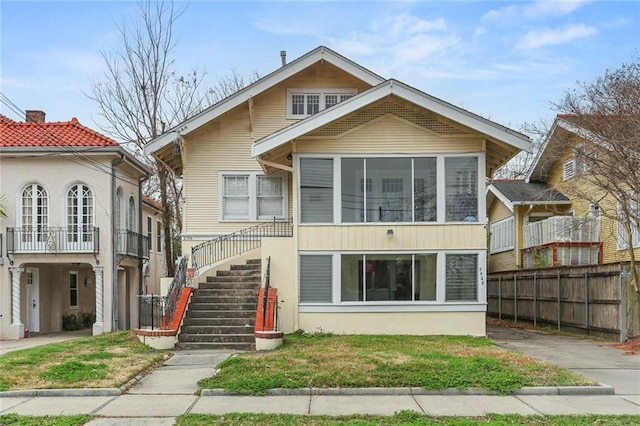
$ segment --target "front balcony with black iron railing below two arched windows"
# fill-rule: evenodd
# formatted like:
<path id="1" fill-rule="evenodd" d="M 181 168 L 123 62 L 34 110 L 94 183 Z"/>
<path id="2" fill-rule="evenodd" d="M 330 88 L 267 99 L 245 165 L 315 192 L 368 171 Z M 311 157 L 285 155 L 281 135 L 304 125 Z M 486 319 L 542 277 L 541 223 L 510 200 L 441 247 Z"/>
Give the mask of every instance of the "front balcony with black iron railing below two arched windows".
<path id="1" fill-rule="evenodd" d="M 7 228 L 7 254 L 99 251 L 100 229 L 92 226 Z"/>

